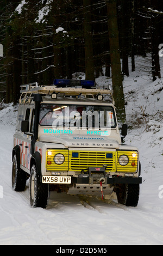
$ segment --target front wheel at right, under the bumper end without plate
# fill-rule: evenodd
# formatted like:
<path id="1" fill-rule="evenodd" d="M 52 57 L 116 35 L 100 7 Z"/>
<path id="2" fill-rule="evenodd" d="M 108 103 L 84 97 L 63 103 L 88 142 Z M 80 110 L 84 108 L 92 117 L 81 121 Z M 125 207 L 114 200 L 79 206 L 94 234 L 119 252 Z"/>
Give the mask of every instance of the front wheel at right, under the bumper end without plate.
<path id="1" fill-rule="evenodd" d="M 126 206 L 137 206 L 139 190 L 139 184 L 120 184 L 120 187 L 116 191 L 118 203 Z"/>

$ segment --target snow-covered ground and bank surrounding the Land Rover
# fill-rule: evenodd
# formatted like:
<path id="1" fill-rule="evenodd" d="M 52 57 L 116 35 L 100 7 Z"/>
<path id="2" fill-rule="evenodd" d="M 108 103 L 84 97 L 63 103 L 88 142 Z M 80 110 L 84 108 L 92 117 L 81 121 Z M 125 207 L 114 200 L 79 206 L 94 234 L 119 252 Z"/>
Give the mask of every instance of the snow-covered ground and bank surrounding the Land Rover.
<path id="1" fill-rule="evenodd" d="M 30 208 L 28 182 L 24 192 L 11 188 L 16 107 L 10 104 L 0 111 L 0 245 L 163 244 L 163 84 L 152 82 L 148 71 L 146 60 L 136 58 L 136 71 L 124 78 L 125 143 L 140 150 L 143 180 L 136 208 L 55 192 L 47 209 Z"/>

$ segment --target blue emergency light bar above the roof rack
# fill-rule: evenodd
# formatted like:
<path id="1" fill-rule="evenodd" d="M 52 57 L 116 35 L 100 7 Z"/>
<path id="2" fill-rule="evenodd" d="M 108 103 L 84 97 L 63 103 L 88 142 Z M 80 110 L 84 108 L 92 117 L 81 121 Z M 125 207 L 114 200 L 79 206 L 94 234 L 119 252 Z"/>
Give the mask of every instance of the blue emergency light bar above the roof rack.
<path id="1" fill-rule="evenodd" d="M 54 79 L 53 84 L 55 86 L 82 86 L 83 88 L 89 88 L 95 85 L 91 80 L 73 80 L 73 79 Z"/>

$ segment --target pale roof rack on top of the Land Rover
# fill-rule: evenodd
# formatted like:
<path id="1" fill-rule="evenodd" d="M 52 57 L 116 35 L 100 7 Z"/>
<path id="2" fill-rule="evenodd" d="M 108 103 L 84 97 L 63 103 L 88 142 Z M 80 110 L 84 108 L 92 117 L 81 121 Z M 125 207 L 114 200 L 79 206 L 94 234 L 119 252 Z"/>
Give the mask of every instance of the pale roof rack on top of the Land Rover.
<path id="1" fill-rule="evenodd" d="M 109 94 L 112 98 L 112 103 L 114 104 L 114 99 L 113 99 L 113 90 L 109 89 L 96 89 L 96 88 L 82 88 L 82 87 L 58 87 L 55 85 L 51 86 L 38 86 L 37 82 L 35 83 L 29 83 L 29 84 L 24 84 L 21 86 L 20 90 L 21 96 L 19 103 L 25 103 L 27 97 L 29 97 L 29 103 L 30 103 L 30 97 L 33 94 L 43 94 L 43 95 L 52 95 L 56 94 L 58 95 L 59 93 L 65 94 L 67 96 L 81 96 L 81 95 L 106 95 Z M 22 101 L 23 99 L 23 101 Z M 54 99 L 54 98 L 53 98 Z"/>

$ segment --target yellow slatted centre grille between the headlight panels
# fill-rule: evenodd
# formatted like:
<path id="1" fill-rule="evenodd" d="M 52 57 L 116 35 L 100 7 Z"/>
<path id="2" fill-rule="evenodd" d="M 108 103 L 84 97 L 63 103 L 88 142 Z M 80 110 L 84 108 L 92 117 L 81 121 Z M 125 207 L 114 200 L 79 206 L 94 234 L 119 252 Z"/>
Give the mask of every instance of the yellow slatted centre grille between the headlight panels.
<path id="1" fill-rule="evenodd" d="M 78 157 L 72 157 L 72 153 L 78 153 Z M 106 157 L 109 154 L 110 157 Z M 112 156 L 112 157 L 111 157 Z M 69 170 L 81 171 L 89 167 L 102 167 L 108 164 L 106 171 L 115 172 L 115 152 L 108 151 L 70 151 Z"/>

